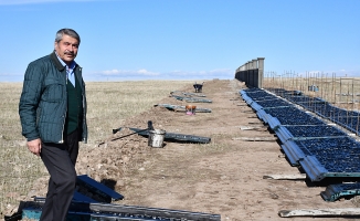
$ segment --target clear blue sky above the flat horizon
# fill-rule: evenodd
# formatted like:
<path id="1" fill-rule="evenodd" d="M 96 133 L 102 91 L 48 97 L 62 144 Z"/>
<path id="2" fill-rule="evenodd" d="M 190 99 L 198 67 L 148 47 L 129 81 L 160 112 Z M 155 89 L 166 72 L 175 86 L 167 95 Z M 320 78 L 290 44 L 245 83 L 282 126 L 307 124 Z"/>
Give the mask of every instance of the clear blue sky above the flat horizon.
<path id="1" fill-rule="evenodd" d="M 0 0 L 0 82 L 76 30 L 85 81 L 234 78 L 265 72 L 360 76 L 359 0 Z"/>

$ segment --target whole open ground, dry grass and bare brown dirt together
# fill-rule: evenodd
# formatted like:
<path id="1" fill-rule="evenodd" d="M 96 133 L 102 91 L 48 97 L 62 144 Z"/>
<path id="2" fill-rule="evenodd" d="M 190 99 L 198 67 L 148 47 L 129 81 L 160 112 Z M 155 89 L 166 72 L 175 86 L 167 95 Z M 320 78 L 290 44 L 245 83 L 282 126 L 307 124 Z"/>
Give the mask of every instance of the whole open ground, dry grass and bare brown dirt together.
<path id="1" fill-rule="evenodd" d="M 300 175 L 280 146 L 241 98 L 246 86 L 236 80 L 205 81 L 202 94 L 211 103 L 191 103 L 211 113 L 187 115 L 158 104 L 187 105 L 169 96 L 193 92 L 193 82 L 88 83 L 89 143 L 82 145 L 76 164 L 87 175 L 125 196 L 114 203 L 221 214 L 221 220 L 284 220 L 292 209 L 357 208 L 358 199 L 326 202 L 326 186 L 309 180 L 272 180 L 269 175 Z M 46 193 L 47 172 L 29 154 L 17 113 L 20 84 L 0 84 L 1 211 L 11 213 L 20 200 Z M 211 138 L 210 144 L 165 141 L 151 148 L 130 127 L 155 128 Z M 112 129 L 123 127 L 113 135 Z M 241 129 L 254 127 L 253 129 Z M 252 141 L 262 138 L 263 141 Z M 9 206 L 8 206 L 9 204 Z M 13 209 L 13 208 L 12 208 Z M 288 220 L 314 220 L 311 217 Z M 329 218 L 316 218 L 324 221 Z M 347 220 L 347 218 L 331 218 Z"/>

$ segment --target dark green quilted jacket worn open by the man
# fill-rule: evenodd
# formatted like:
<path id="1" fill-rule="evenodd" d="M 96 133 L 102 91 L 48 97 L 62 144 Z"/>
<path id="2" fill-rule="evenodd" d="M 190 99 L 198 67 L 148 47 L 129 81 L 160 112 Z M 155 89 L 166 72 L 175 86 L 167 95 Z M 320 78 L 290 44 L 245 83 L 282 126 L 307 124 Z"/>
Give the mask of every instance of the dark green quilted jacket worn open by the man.
<path id="1" fill-rule="evenodd" d="M 83 125 L 80 140 L 87 143 L 86 95 L 82 67 L 76 65 L 83 94 Z M 41 138 L 43 143 L 62 144 L 67 112 L 66 69 L 55 52 L 29 64 L 19 104 L 22 135 L 28 141 Z"/>

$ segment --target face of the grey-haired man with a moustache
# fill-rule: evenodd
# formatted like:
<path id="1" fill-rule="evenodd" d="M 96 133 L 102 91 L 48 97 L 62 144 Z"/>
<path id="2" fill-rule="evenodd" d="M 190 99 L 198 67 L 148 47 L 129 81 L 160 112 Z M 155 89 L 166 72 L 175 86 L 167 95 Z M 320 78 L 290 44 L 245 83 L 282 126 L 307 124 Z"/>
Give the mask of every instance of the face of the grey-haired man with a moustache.
<path id="1" fill-rule="evenodd" d="M 61 60 L 67 65 L 74 61 L 77 55 L 78 41 L 70 35 L 64 34 L 60 42 L 55 42 L 55 51 Z"/>

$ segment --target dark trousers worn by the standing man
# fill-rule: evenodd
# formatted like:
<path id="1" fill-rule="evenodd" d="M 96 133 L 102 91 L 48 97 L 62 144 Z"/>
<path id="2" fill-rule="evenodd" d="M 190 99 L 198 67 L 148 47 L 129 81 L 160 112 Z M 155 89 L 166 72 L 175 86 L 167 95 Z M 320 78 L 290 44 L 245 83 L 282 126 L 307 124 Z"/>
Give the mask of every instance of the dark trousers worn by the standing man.
<path id="1" fill-rule="evenodd" d="M 42 143 L 41 159 L 49 173 L 49 189 L 41 221 L 64 221 L 72 201 L 78 154 L 77 130 L 65 137 L 64 144 Z"/>

